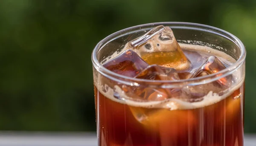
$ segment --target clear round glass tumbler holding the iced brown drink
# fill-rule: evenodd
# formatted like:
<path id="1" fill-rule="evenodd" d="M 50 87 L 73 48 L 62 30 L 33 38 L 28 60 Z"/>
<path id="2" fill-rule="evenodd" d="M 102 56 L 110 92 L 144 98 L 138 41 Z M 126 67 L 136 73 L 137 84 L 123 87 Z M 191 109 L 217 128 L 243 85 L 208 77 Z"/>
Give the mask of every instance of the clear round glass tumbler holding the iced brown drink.
<path id="1" fill-rule="evenodd" d="M 172 28 L 180 44 L 210 47 L 231 56 L 233 65 L 192 79 L 176 81 L 136 79 L 102 66 L 109 56 L 157 25 Z M 233 34 L 219 28 L 187 22 L 160 22 L 126 28 L 102 39 L 93 50 L 93 81 L 99 146 L 243 146 L 244 78 L 246 51 Z M 232 79 L 230 79 L 232 78 Z M 207 84 L 224 79 L 230 86 L 215 91 Z M 136 100 L 132 89 L 200 89 L 192 96 L 163 101 Z M 189 95 L 197 92 L 187 90 Z"/>

